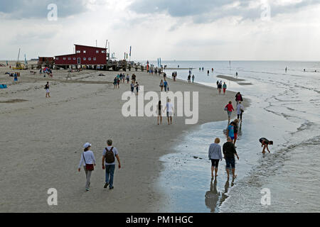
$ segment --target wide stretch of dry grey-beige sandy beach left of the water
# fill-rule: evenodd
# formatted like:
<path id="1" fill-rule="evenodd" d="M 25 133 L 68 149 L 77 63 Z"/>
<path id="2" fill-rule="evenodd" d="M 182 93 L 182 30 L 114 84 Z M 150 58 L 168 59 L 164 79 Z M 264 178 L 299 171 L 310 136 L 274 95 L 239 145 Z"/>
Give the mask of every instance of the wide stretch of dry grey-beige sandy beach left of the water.
<path id="1" fill-rule="evenodd" d="M 105 77 L 98 77 L 100 71 L 84 70 L 66 82 L 66 70 L 54 70 L 53 79 L 19 71 L 17 84 L 5 72 L 13 71 L 0 67 L 0 84 L 8 85 L 0 89 L 1 212 L 159 211 L 166 199 L 155 184 L 162 168 L 159 157 L 173 153 L 183 131 L 227 119 L 223 107 L 235 97 L 234 92 L 218 95 L 212 87 L 168 79 L 173 92 L 199 92 L 199 121 L 186 125 L 181 117 L 168 126 L 164 118 L 158 126 L 154 117 L 122 116 L 125 101 L 121 97 L 129 84 L 113 89 L 117 72 L 102 72 Z M 127 73 L 135 73 L 145 91 L 159 92 L 163 77 Z M 50 99 L 43 89 L 47 81 Z M 122 169 L 115 171 L 113 191 L 103 189 L 101 167 L 109 138 L 122 161 Z M 83 170 L 77 171 L 85 142 L 92 143 L 97 160 L 90 192 L 84 190 Z M 47 204 L 50 188 L 58 190 L 58 206 Z"/>

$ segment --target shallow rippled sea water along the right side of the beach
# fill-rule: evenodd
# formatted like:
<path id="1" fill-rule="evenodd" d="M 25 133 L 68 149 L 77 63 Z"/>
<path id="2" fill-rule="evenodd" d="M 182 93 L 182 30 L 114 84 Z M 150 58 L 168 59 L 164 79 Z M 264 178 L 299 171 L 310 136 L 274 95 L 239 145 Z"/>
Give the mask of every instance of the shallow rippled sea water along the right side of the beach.
<path id="1" fill-rule="evenodd" d="M 172 61 L 162 65 L 191 67 L 195 82 L 212 86 L 213 92 L 217 92 L 217 80 L 223 80 L 228 90 L 241 92 L 245 101 L 250 99 L 236 144 L 238 177 L 227 180 L 225 160 L 220 162 L 217 179 L 212 181 L 210 175 L 208 148 L 217 137 L 220 145 L 225 143 L 228 121 L 206 123 L 185 132 L 173 153 L 161 157 L 164 171 L 159 187 L 169 198 L 164 211 L 320 211 L 320 62 Z M 166 73 L 170 77 L 173 71 L 178 72 L 178 79 L 188 77 L 188 70 Z M 236 72 L 239 79 L 252 85 L 217 77 L 235 77 Z M 262 154 L 262 137 L 274 141 L 271 153 Z M 261 202 L 263 189 L 270 190 L 270 205 Z"/>

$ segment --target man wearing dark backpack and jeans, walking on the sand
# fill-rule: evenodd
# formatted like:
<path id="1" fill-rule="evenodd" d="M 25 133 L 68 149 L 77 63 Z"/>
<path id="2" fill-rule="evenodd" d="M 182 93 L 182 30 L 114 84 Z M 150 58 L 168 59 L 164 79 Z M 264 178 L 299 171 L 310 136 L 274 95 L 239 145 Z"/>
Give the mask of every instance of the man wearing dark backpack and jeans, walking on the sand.
<path id="1" fill-rule="evenodd" d="M 107 148 L 102 154 L 102 170 L 105 170 L 105 189 L 109 186 L 110 190 L 113 187 L 113 177 L 115 169 L 115 158 L 119 163 L 118 167 L 121 168 L 120 159 L 117 148 L 112 147 L 112 140 L 107 140 Z"/>

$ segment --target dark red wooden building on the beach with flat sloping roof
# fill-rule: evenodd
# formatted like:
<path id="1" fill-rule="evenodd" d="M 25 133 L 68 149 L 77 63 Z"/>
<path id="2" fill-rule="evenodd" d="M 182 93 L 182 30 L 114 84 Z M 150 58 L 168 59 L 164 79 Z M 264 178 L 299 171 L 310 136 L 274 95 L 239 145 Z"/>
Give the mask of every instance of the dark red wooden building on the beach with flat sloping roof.
<path id="1" fill-rule="evenodd" d="M 107 66 L 107 49 L 75 44 L 75 54 L 55 56 L 55 66 Z"/>

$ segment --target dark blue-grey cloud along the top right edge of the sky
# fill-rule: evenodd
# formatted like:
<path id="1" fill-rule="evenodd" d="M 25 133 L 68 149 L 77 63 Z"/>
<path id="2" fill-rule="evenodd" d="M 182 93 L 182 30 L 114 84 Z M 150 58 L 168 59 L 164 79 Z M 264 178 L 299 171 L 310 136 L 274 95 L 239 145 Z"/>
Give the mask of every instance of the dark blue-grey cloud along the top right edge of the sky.
<path id="1" fill-rule="evenodd" d="M 227 16 L 240 16 L 242 19 L 255 20 L 261 17 L 262 2 L 269 2 L 271 15 L 279 13 L 292 13 L 304 6 L 319 4 L 320 0 L 303 0 L 297 4 L 279 6 L 274 1 L 261 1 L 255 8 L 249 7 L 250 3 L 259 1 L 252 0 L 136 0 L 130 6 L 137 13 L 168 13 L 172 17 L 192 17 L 195 23 L 209 23 L 218 18 Z M 238 5 L 231 6 L 232 4 Z M 226 7 L 230 6 L 230 7 Z"/>

